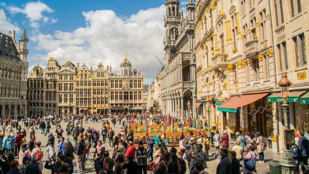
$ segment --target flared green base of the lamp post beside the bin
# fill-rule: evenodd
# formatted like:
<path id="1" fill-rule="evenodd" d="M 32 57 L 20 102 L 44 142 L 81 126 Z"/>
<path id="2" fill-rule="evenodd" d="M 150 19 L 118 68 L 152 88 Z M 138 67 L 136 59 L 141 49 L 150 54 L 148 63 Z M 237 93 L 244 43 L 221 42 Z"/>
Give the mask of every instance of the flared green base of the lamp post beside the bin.
<path id="1" fill-rule="evenodd" d="M 281 172 L 284 174 L 294 174 L 294 162 L 291 150 L 284 149 L 282 155 Z"/>

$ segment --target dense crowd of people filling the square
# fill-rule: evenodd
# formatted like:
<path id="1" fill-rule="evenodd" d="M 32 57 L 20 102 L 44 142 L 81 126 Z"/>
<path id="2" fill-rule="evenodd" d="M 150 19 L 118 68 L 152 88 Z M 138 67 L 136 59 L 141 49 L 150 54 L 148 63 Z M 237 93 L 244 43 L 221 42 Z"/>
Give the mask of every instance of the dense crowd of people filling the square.
<path id="1" fill-rule="evenodd" d="M 83 126 L 88 121 L 97 122 L 98 120 L 102 122 L 101 128 Z M 205 132 L 201 132 L 200 136 L 193 135 L 193 132 L 190 132 L 188 137 L 181 136 L 179 150 L 175 147 L 168 149 L 167 139 L 159 132 L 147 136 L 145 141 L 138 141 L 138 147 L 135 147 L 134 133 L 128 126 L 140 125 L 145 120 L 149 120 L 145 115 L 119 115 L 105 120 L 99 115 L 55 115 L 24 117 L 21 120 L 22 124 L 19 124 L 14 118 L 3 118 L 0 132 L 2 172 L 4 174 L 42 174 L 45 168 L 50 169 L 51 174 L 74 172 L 80 174 L 87 172 L 85 165 L 89 161 L 89 165 L 94 166 L 97 174 L 146 174 L 150 163 L 155 165 L 155 174 L 184 174 L 186 171 L 189 171 L 189 174 L 208 174 L 204 170 L 208 168 L 207 161 L 210 159 L 210 138 Z M 163 118 L 158 116 L 154 118 L 153 123 L 162 120 Z M 178 120 L 173 119 L 173 121 Z M 61 127 L 61 122 L 66 123 L 66 128 Z M 113 130 L 117 123 L 121 125 L 119 133 Z M 13 131 L 14 128 L 16 131 Z M 41 141 L 36 140 L 35 130 L 39 128 L 41 134 L 48 136 L 46 150 L 42 150 Z M 73 141 L 69 141 L 70 136 Z M 223 135 L 220 135 L 216 130 L 213 137 L 214 146 L 216 155 L 221 156 L 216 173 L 240 174 L 242 170 L 243 174 L 256 174 L 257 154 L 259 163 L 264 163 L 263 136 L 256 132 L 256 138 L 253 138 L 249 132 L 243 137 L 240 132 L 236 132 L 235 137 L 235 146 L 230 149 L 227 131 L 224 130 Z M 291 146 L 291 152 L 295 163 L 294 173 L 298 174 L 299 166 L 303 172 L 305 172 L 305 166 L 309 167 L 307 163 L 309 141 L 302 131 L 295 134 L 295 137 L 296 142 Z M 114 147 L 112 154 L 105 149 L 106 138 L 109 146 Z M 91 151 L 94 152 L 91 153 Z M 74 171 L 73 160 L 76 171 Z"/>

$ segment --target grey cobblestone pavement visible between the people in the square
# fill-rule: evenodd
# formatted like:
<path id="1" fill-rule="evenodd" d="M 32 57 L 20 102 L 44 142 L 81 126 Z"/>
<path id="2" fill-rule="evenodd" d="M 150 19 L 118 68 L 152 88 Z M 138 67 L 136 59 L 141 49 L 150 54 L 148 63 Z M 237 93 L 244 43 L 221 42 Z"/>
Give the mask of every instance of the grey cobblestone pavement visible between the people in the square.
<path id="1" fill-rule="evenodd" d="M 110 119 L 110 118 L 109 118 Z M 66 128 L 66 122 L 62 122 L 61 123 L 61 127 L 64 129 L 65 131 L 65 128 Z M 87 129 L 88 126 L 93 126 L 95 129 L 99 129 L 101 130 L 101 127 L 102 127 L 102 123 L 99 121 L 99 123 L 93 123 L 93 122 L 88 122 L 88 123 L 85 123 L 83 124 L 83 127 L 85 129 Z M 118 132 L 120 131 L 120 127 L 122 125 L 119 125 L 119 123 L 117 122 L 115 128 L 113 127 L 113 125 L 111 125 L 113 130 L 115 131 L 115 134 L 118 134 Z M 56 129 L 51 129 L 51 132 L 53 133 L 53 135 L 55 136 L 56 133 L 55 133 Z M 43 134 L 40 134 L 40 129 L 38 130 L 35 130 L 35 135 L 36 135 L 36 141 L 41 141 L 42 145 L 41 145 L 41 148 L 44 152 L 44 158 L 43 158 L 43 163 L 45 164 L 46 160 L 47 160 L 47 153 L 45 151 L 46 149 L 46 143 L 47 143 L 47 136 L 45 137 Z M 66 133 L 64 132 L 63 133 L 63 136 L 65 137 L 65 141 L 67 136 L 66 136 Z M 29 139 L 29 137 L 27 136 L 27 140 Z M 100 139 L 102 140 L 102 135 L 100 136 Z M 74 141 L 73 141 L 73 138 L 71 136 L 69 136 L 69 141 L 72 142 L 72 144 L 74 144 Z M 113 152 L 113 148 L 111 148 L 109 146 L 109 143 L 108 141 L 105 141 L 105 149 L 109 151 L 109 154 L 110 156 L 112 156 L 112 152 Z M 231 142 L 231 147 L 234 146 L 234 144 Z M 170 147 L 169 147 L 170 148 Z M 169 149 L 168 148 L 168 149 Z M 178 150 L 179 150 L 179 147 L 177 146 L 176 147 Z M 55 149 L 57 149 L 55 147 Z M 57 150 L 56 150 L 57 151 Z M 94 152 L 95 149 L 94 148 L 91 148 L 90 149 L 91 152 Z M 57 153 L 57 152 L 56 152 Z M 210 152 L 209 152 L 209 155 L 210 155 L 210 160 L 207 161 L 207 166 L 208 168 L 205 168 L 205 171 L 206 172 L 209 172 L 210 174 L 214 174 L 216 173 L 216 168 L 218 166 L 218 163 L 220 162 L 219 159 L 217 159 L 217 156 L 214 156 L 215 154 L 215 148 L 211 148 Z M 92 155 L 91 156 L 91 159 L 92 159 Z M 256 169 L 257 169 L 257 172 L 259 174 L 266 174 L 266 173 L 269 173 L 269 166 L 268 166 L 268 163 L 272 160 L 279 160 L 281 161 L 281 157 L 282 157 L 282 154 L 281 153 L 277 153 L 277 152 L 274 152 L 274 151 L 271 151 L 269 149 L 266 149 L 265 151 L 265 163 L 256 163 Z M 15 159 L 18 159 L 18 157 L 16 157 Z M 256 159 L 256 162 L 258 161 L 258 157 Z M 242 164 L 242 162 L 241 162 Z M 73 165 L 74 165 L 74 172 L 77 172 L 77 167 L 76 167 L 76 159 L 73 160 Z M 188 168 L 188 167 L 187 167 Z M 87 174 L 95 174 L 95 169 L 94 169 L 94 166 L 91 166 L 90 165 L 90 162 L 87 161 L 87 165 L 85 166 L 85 171 L 84 173 L 87 173 Z M 48 169 L 43 169 L 43 174 L 51 174 L 51 170 L 48 170 Z M 189 174 L 189 171 L 186 172 L 186 174 Z"/>

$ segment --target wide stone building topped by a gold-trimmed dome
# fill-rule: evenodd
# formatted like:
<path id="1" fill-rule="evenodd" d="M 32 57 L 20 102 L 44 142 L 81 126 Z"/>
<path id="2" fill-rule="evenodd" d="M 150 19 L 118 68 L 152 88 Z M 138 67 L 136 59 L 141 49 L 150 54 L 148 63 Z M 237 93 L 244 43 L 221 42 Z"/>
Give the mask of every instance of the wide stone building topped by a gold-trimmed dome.
<path id="1" fill-rule="evenodd" d="M 127 56 L 120 63 L 121 71 L 109 75 L 111 113 L 143 113 L 143 75 L 132 68 Z"/>

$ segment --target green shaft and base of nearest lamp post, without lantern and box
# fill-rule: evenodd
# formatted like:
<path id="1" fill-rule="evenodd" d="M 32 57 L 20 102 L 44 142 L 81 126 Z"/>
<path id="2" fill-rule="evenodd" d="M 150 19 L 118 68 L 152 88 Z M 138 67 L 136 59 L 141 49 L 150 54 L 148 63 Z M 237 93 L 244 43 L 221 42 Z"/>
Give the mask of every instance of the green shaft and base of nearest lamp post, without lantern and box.
<path id="1" fill-rule="evenodd" d="M 289 129 L 289 118 L 288 118 L 288 112 L 289 112 L 289 105 L 287 102 L 282 103 L 281 105 L 283 110 L 283 116 L 284 116 L 284 129 Z M 283 150 L 282 160 L 281 160 L 281 172 L 286 174 L 293 174 L 294 173 L 294 162 L 293 157 L 291 154 L 291 150 L 289 145 L 285 145 L 285 148 Z"/>

